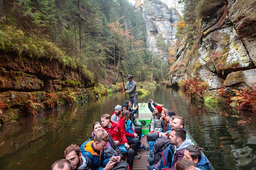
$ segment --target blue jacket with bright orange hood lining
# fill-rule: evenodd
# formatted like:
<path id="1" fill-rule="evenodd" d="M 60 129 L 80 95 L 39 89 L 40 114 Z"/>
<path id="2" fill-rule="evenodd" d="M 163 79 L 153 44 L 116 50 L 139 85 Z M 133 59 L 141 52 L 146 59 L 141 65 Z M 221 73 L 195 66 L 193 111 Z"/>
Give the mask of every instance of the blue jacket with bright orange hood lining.
<path id="1" fill-rule="evenodd" d="M 99 154 L 93 150 L 93 148 L 91 147 L 91 144 L 93 142 L 94 141 L 85 141 L 81 145 L 80 150 L 83 156 L 87 156 L 89 159 L 91 159 L 95 170 L 103 170 L 103 168 L 106 167 L 106 165 L 108 164 L 109 159 L 106 159 L 104 149 L 101 150 Z"/>

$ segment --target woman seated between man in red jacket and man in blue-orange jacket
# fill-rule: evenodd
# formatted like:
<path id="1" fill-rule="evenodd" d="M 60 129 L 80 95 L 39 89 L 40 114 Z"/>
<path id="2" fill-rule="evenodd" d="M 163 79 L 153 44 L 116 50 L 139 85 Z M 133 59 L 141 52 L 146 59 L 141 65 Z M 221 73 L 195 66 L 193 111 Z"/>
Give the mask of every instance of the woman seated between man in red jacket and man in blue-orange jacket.
<path id="1" fill-rule="evenodd" d="M 104 132 L 109 136 L 109 141 L 106 144 L 106 147 L 104 148 L 104 150 L 106 151 L 106 149 L 108 149 L 108 147 L 111 146 L 117 152 L 117 155 L 119 156 L 118 160 L 121 161 L 122 157 L 123 157 L 122 152 L 120 151 L 118 145 L 114 142 L 114 140 L 110 136 L 110 134 L 106 130 L 103 129 L 101 122 L 93 123 L 93 133 L 91 133 L 90 140 L 94 140 L 95 135 L 97 135 L 100 132 Z M 106 155 L 106 158 L 109 158 L 109 157 L 107 157 L 107 155 Z"/>

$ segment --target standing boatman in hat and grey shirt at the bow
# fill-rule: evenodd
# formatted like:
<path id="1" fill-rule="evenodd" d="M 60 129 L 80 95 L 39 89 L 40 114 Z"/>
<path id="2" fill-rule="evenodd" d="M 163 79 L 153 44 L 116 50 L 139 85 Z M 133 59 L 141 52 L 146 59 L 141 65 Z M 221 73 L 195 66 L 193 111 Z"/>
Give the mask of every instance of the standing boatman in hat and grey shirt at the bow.
<path id="1" fill-rule="evenodd" d="M 134 107 L 135 107 L 138 105 L 138 93 L 136 89 L 136 83 L 132 80 L 133 78 L 132 75 L 127 75 L 126 78 L 128 79 L 128 82 L 124 90 L 128 90 L 128 91 L 124 92 L 124 94 L 129 94 L 129 100 L 131 104 L 134 104 Z M 135 114 L 135 117 L 138 117 L 139 113 L 136 113 L 136 114 Z"/>

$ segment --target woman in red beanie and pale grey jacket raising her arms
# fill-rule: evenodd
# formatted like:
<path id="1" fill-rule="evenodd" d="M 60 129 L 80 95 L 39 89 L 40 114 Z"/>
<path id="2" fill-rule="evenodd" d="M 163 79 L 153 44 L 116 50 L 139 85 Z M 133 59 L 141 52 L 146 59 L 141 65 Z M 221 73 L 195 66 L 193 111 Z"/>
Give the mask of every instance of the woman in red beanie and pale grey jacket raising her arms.
<path id="1" fill-rule="evenodd" d="M 150 132 L 152 131 L 160 131 L 161 130 L 161 111 L 163 110 L 163 108 L 161 106 L 157 106 L 157 104 L 155 104 L 153 102 L 152 99 L 148 99 L 148 109 L 153 113 L 152 114 L 152 118 L 151 118 L 151 124 L 150 124 Z M 153 109 L 153 107 L 151 106 L 151 103 L 153 103 L 153 106 L 155 106 L 155 109 Z"/>

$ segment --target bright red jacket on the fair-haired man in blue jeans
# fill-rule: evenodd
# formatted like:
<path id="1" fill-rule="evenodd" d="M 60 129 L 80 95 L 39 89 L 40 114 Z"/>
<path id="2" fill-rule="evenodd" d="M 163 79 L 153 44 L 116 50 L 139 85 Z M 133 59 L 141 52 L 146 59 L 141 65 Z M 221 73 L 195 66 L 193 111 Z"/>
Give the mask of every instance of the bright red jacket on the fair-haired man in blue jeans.
<path id="1" fill-rule="evenodd" d="M 111 135 L 114 141 L 119 141 L 119 144 L 128 144 L 126 135 L 124 134 L 121 125 L 118 122 L 110 122 L 112 123 L 111 128 L 103 127 L 104 130 L 106 130 Z"/>

